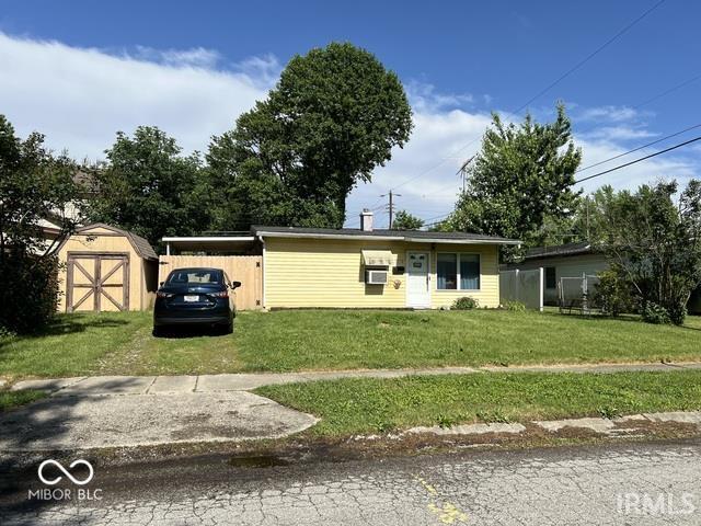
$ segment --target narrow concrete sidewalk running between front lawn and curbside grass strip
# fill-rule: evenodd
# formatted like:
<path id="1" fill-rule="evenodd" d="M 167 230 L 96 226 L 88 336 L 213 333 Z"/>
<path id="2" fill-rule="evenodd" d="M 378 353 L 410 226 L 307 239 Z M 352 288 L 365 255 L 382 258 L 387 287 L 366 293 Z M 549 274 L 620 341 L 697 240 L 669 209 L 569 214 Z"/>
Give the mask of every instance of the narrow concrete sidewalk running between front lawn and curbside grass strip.
<path id="1" fill-rule="evenodd" d="M 701 363 L 598 364 L 515 367 L 441 367 L 420 369 L 372 369 L 306 373 L 253 373 L 199 376 L 93 376 L 23 380 L 12 390 L 39 389 L 53 396 L 79 395 L 179 395 L 249 391 L 274 384 L 335 380 L 340 378 L 401 378 L 421 375 L 467 375 L 476 373 L 623 373 L 701 369 Z"/>

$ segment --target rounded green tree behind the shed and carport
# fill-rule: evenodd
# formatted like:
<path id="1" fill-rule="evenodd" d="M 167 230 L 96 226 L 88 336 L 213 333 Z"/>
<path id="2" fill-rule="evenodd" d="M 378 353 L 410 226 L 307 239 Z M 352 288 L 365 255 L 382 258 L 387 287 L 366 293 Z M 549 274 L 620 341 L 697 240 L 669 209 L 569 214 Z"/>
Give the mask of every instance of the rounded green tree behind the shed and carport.
<path id="1" fill-rule="evenodd" d="M 117 133 L 94 170 L 92 220 L 120 226 L 160 245 L 168 235 L 196 233 L 209 224 L 211 195 L 197 153 L 183 156 L 175 139 L 157 127 L 140 126 L 134 137 Z"/>

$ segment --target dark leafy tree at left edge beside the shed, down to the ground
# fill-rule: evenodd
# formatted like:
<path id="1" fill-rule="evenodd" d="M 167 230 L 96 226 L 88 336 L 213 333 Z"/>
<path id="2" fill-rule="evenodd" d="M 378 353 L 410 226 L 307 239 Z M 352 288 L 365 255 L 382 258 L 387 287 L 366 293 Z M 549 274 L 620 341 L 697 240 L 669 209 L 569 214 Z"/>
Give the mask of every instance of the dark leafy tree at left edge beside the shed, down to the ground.
<path id="1" fill-rule="evenodd" d="M 22 140 L 0 115 L 0 328 L 37 330 L 56 311 L 56 251 L 80 217 L 74 173 L 43 135 Z"/>

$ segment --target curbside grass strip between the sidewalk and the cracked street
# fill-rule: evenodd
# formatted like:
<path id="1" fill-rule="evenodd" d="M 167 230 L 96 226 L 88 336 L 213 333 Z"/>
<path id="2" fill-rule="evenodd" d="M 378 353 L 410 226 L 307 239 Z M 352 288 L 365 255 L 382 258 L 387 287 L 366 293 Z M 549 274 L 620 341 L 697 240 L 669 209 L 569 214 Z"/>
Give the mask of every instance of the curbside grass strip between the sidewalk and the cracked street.
<path id="1" fill-rule="evenodd" d="M 343 379 L 262 387 L 258 395 L 312 413 L 317 436 L 701 409 L 701 371 L 472 374 Z"/>

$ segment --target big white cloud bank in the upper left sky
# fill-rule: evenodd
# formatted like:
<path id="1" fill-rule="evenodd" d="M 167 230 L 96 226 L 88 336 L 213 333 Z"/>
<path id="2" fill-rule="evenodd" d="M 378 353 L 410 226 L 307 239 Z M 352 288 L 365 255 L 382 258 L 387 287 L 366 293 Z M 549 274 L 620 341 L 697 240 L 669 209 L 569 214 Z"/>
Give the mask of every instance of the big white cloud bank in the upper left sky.
<path id="1" fill-rule="evenodd" d="M 0 33 L 0 112 L 21 136 L 39 130 L 78 159 L 102 158 L 117 130 L 139 125 L 161 127 L 185 151 L 203 150 L 265 96 L 276 64 L 264 57 L 227 71 L 214 69 L 221 58 L 206 49 L 136 55 Z"/>

